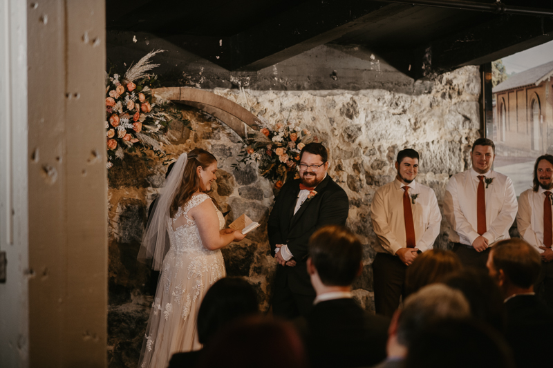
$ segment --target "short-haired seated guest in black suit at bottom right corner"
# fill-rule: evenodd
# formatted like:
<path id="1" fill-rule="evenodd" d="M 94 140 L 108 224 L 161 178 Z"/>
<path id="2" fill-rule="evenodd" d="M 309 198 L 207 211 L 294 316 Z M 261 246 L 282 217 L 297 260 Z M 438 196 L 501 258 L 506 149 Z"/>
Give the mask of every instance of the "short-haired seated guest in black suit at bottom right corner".
<path id="1" fill-rule="evenodd" d="M 547 353 L 553 311 L 536 298 L 533 289 L 541 269 L 540 255 L 522 239 L 503 240 L 491 249 L 487 267 L 505 298 L 505 337 L 517 367 L 551 367 Z"/>

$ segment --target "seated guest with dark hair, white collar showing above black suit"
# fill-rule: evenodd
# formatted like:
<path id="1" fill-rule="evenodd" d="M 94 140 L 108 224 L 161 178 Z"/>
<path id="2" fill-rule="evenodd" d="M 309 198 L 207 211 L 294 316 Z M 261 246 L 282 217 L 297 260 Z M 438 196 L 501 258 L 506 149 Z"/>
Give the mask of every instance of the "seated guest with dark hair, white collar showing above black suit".
<path id="1" fill-rule="evenodd" d="M 308 273 L 315 288 L 307 317 L 312 367 L 361 367 L 386 358 L 390 321 L 374 316 L 352 299 L 351 284 L 361 273 L 362 245 L 344 226 L 324 226 L 309 240 Z"/>

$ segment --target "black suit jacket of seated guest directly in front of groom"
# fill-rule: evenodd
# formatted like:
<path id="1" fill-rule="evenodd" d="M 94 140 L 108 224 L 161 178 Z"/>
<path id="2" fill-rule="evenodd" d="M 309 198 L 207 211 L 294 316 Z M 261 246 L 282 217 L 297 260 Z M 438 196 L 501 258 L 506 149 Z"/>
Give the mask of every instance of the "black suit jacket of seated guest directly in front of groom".
<path id="1" fill-rule="evenodd" d="M 390 320 L 364 311 L 353 299 L 319 302 L 307 318 L 312 367 L 368 367 L 386 359 Z"/>

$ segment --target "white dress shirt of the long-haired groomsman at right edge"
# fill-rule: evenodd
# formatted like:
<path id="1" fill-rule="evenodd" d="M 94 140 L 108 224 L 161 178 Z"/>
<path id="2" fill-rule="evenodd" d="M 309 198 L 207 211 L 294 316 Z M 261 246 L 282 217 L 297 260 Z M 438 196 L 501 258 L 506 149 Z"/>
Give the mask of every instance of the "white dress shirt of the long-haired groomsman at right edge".
<path id="1" fill-rule="evenodd" d="M 551 191 L 553 192 L 553 190 Z M 539 253 L 543 246 L 543 201 L 545 189 L 541 186 L 537 192 L 532 189 L 523 191 L 518 197 L 518 213 L 516 213 L 516 226 L 522 238 L 534 246 Z"/>

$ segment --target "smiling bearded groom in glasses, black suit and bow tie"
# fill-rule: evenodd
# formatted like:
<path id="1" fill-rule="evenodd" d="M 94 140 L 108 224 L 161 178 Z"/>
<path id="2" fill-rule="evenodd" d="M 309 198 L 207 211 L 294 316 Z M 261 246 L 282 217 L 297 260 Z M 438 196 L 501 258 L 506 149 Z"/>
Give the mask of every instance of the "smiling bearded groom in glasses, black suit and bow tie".
<path id="1" fill-rule="evenodd" d="M 273 284 L 272 311 L 284 318 L 306 316 L 315 300 L 307 272 L 308 241 L 324 225 L 344 225 L 348 195 L 326 173 L 328 152 L 320 143 L 299 154 L 299 179 L 286 182 L 269 216 L 271 252 L 279 262 Z"/>

